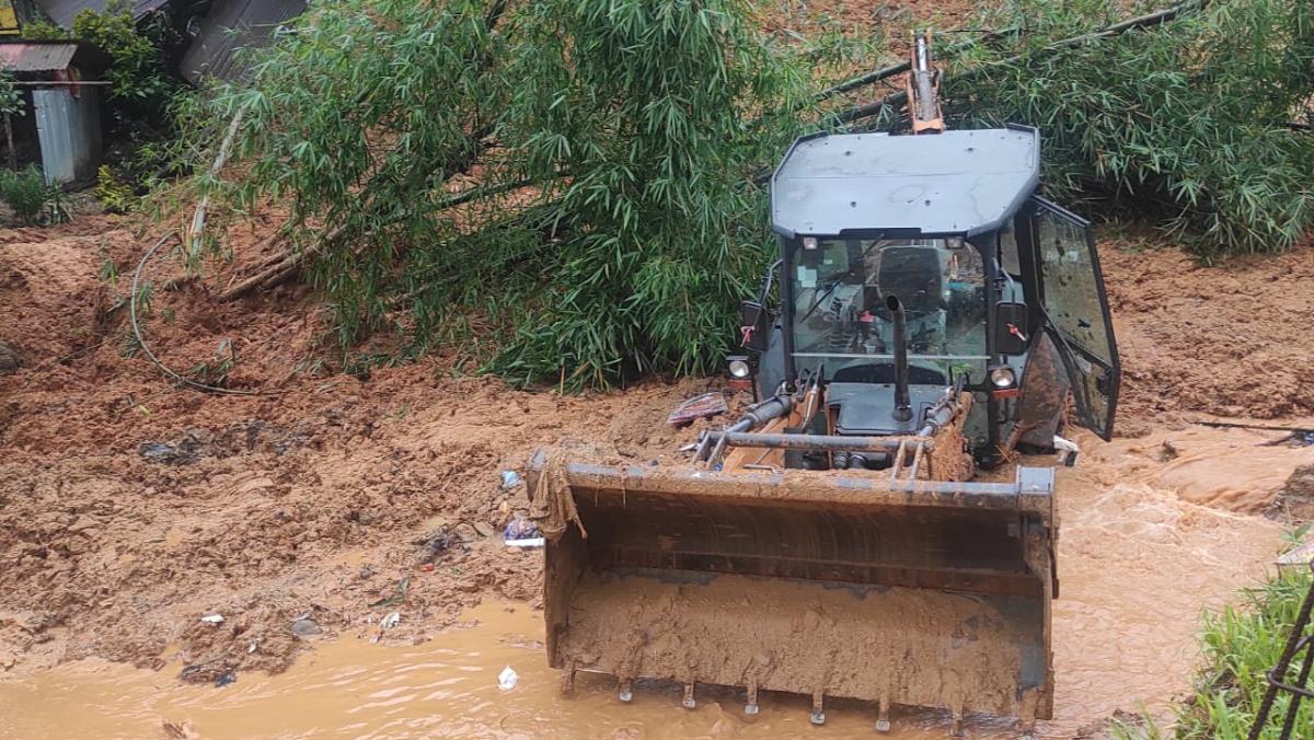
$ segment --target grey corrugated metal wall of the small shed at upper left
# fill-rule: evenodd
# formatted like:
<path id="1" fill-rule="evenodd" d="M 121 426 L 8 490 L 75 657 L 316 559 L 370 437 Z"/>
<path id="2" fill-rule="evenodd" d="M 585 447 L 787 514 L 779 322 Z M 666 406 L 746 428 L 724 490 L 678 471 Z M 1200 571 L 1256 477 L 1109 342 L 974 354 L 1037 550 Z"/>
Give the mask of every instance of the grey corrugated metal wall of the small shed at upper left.
<path id="1" fill-rule="evenodd" d="M 33 89 L 41 167 L 47 183 L 88 183 L 100 166 L 100 104 L 96 88 Z"/>

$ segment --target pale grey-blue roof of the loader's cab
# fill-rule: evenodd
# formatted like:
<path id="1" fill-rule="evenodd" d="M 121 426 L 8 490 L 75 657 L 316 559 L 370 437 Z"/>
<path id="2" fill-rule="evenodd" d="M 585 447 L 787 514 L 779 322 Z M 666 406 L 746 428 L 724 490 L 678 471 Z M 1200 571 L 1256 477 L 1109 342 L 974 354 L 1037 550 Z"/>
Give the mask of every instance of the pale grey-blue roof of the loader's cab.
<path id="1" fill-rule="evenodd" d="M 1039 154 L 1025 126 L 803 137 L 771 177 L 771 226 L 786 237 L 989 231 L 1035 189 Z"/>

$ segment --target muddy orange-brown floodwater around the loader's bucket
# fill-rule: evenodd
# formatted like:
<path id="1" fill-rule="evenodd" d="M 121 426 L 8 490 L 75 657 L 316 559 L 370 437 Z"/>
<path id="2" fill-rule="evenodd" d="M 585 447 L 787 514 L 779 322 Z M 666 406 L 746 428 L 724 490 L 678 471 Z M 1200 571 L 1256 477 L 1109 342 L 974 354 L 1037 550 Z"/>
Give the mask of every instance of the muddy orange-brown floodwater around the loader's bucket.
<path id="1" fill-rule="evenodd" d="M 1281 527 L 1248 511 L 1311 455 L 1256 447 L 1268 439 L 1200 428 L 1106 446 L 1080 439 L 1083 464 L 1059 471 L 1056 719 L 1042 736 L 1102 736 L 1114 710 L 1162 715 L 1188 686 L 1200 610 L 1261 576 L 1281 547 Z M 223 689 L 179 685 L 176 666 L 66 664 L 0 681 L 0 737 L 872 736 L 875 714 L 855 702 L 828 705 L 827 726 L 813 728 L 807 699 L 794 695 L 765 695 L 762 712 L 746 718 L 729 690 L 700 687 L 699 707 L 686 711 L 675 687 L 641 686 L 622 705 L 611 680 L 582 676 L 564 701 L 539 613 L 485 603 L 465 620 L 411 647 L 342 637 L 281 676 L 242 674 Z M 507 665 L 520 680 L 502 691 Z M 1016 736 L 1000 720 L 968 724 L 975 737 Z M 892 736 L 943 737 L 946 727 L 937 712 L 896 712 Z"/>

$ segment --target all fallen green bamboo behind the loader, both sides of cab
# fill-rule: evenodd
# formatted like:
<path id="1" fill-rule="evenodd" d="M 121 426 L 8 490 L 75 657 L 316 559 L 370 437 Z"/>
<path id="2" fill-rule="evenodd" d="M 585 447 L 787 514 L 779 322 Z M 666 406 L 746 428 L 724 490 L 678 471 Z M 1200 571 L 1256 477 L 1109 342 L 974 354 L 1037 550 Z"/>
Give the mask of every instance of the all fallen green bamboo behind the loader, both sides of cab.
<path id="1" fill-rule="evenodd" d="M 1054 195 L 1201 255 L 1294 243 L 1314 213 L 1314 138 L 1289 125 L 1314 92 L 1306 4 L 1084 7 L 1012 3 L 1005 30 L 949 45 L 954 125 L 1039 126 Z M 423 351 L 477 312 L 486 368 L 523 382 L 710 371 L 771 250 L 761 172 L 798 133 L 905 125 L 901 93 L 855 100 L 903 66 L 827 84 L 749 18 L 740 0 L 318 5 L 193 112 L 198 168 L 243 116 L 230 166 L 192 181 L 212 212 L 292 209 L 285 251 L 223 294 L 304 273 L 343 347 L 396 326 Z"/>

